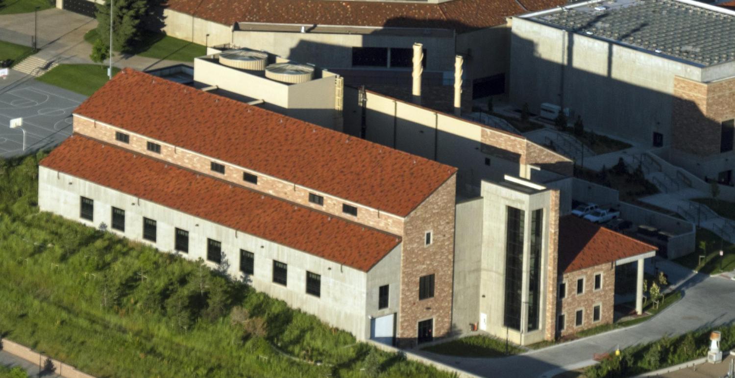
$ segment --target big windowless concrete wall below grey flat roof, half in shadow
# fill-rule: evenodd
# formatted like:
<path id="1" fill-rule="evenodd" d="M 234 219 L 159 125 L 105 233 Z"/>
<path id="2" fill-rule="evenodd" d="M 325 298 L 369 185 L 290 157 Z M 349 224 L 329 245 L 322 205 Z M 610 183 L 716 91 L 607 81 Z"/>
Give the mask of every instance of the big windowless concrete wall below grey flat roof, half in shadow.
<path id="1" fill-rule="evenodd" d="M 674 76 L 700 68 L 604 40 L 514 18 L 510 98 L 538 113 L 543 102 L 570 107 L 587 128 L 650 145 L 671 143 Z M 563 83 L 562 83 L 563 78 Z"/>

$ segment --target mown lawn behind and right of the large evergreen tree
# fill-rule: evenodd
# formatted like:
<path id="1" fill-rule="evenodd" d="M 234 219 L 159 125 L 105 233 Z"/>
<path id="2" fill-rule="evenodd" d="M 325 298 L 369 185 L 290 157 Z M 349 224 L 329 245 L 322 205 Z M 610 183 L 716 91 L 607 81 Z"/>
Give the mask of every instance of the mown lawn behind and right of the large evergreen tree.
<path id="1" fill-rule="evenodd" d="M 85 34 L 85 40 L 88 43 L 94 43 L 96 39 L 96 29 L 92 29 Z M 154 59 L 192 62 L 194 58 L 207 54 L 207 49 L 202 45 L 169 37 L 162 33 L 146 32 L 138 46 L 134 51 L 131 51 L 131 54 Z"/>

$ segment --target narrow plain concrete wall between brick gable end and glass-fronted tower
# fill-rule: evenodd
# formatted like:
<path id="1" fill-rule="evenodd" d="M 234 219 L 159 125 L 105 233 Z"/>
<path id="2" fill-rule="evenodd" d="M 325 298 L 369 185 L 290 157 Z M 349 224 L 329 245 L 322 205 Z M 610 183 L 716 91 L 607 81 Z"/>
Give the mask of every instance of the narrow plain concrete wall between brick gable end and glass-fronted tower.
<path id="1" fill-rule="evenodd" d="M 454 297 L 452 327 L 470 331 L 470 324 L 481 321 L 480 274 L 482 260 L 482 209 L 484 199 L 476 198 L 456 204 L 454 238 Z M 490 292 L 485 290 L 484 295 Z M 498 292 L 495 292 L 498 295 Z M 487 314 L 486 314 L 487 315 Z M 487 324 L 479 324 L 487 328 Z"/>

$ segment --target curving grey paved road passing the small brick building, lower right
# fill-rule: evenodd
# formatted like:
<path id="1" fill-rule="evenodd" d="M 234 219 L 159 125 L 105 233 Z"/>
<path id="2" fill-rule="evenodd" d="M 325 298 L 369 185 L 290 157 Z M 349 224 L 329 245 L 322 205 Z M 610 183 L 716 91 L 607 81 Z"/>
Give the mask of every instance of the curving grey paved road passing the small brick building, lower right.
<path id="1" fill-rule="evenodd" d="M 681 272 L 669 275 L 681 277 Z M 689 277 L 680 286 L 683 294 L 681 300 L 651 321 L 633 327 L 512 357 L 458 358 L 418 353 L 484 377 L 551 377 L 559 372 L 559 368 L 571 370 L 591 363 L 593 354 L 613 352 L 617 346 L 623 349 L 658 340 L 664 335 L 679 335 L 693 329 L 717 327 L 735 321 L 735 281 L 704 274 L 689 274 Z"/>

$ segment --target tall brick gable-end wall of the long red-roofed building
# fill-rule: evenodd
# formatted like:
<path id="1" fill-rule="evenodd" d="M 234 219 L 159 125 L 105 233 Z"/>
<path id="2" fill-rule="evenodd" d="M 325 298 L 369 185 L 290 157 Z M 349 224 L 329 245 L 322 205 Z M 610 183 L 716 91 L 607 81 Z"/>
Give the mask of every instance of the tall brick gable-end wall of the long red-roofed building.
<path id="1" fill-rule="evenodd" d="M 434 319 L 434 337 L 451 330 L 456 174 L 420 204 L 404 226 L 398 346 L 412 346 L 419 321 Z M 426 232 L 432 243 L 425 246 Z M 434 274 L 434 297 L 419 300 L 419 278 Z"/>

